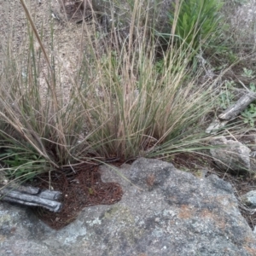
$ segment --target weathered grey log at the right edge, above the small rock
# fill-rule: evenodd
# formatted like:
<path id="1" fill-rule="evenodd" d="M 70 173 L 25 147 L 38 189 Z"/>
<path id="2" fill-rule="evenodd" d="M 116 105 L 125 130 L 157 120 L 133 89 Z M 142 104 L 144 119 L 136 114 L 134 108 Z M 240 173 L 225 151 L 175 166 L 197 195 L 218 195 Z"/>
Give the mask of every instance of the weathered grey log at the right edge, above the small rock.
<path id="1" fill-rule="evenodd" d="M 241 113 L 247 106 L 256 100 L 256 93 L 251 91 L 248 94 L 241 96 L 241 98 L 236 102 L 235 105 L 226 109 L 224 113 L 218 115 L 221 120 L 230 120 L 236 118 L 236 116 Z"/>

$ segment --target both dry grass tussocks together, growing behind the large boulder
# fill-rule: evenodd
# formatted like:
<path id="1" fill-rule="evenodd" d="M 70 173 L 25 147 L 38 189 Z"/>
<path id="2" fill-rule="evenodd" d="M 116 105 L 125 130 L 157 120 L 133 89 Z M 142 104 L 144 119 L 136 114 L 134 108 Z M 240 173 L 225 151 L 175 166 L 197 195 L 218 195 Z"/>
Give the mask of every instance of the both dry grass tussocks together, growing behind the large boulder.
<path id="1" fill-rule="evenodd" d="M 200 122 L 214 94 L 211 84 L 196 84 L 189 71 L 193 53 L 171 46 L 159 73 L 155 41 L 138 29 L 136 18 L 120 47 L 102 42 L 84 25 L 87 53 L 81 51 L 83 61 L 69 77 L 72 90 L 64 95 L 59 75 L 64 67 L 55 66 L 55 45 L 49 54 L 27 10 L 26 15 L 32 27 L 27 55 L 15 61 L 9 53 L 0 74 L 0 144 L 3 150 L 19 149 L 4 151 L 2 160 L 15 168 L 9 172 L 14 177 L 32 177 L 32 172 L 50 172 L 91 157 L 128 160 L 195 150 L 203 141 Z M 116 30 L 112 35 L 119 38 Z M 27 172 L 25 158 L 32 163 Z"/>

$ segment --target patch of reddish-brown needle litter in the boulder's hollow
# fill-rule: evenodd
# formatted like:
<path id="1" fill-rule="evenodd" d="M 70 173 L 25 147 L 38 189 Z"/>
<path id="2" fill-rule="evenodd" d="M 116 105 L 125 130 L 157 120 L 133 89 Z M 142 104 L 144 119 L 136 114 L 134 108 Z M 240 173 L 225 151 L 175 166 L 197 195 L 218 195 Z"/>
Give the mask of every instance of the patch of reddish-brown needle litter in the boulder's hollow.
<path id="1" fill-rule="evenodd" d="M 84 207 L 110 205 L 119 201 L 123 191 L 118 183 L 103 183 L 98 171 L 99 165 L 73 166 L 63 171 L 46 173 L 33 182 L 33 186 L 41 189 L 61 191 L 61 212 L 50 212 L 36 207 L 35 213 L 51 228 L 59 230 L 73 222 Z"/>

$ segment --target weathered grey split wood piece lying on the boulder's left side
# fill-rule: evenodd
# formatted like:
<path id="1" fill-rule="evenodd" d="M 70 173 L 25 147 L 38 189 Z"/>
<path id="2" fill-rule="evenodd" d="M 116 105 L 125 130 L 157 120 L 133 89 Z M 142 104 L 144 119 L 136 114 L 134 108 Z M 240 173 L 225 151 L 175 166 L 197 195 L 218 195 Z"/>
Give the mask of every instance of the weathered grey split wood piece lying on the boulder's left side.
<path id="1" fill-rule="evenodd" d="M 55 201 L 61 199 L 61 192 L 54 190 L 20 186 L 15 189 L 0 189 L 0 196 L 2 201 L 15 202 L 29 207 L 44 207 L 51 212 L 60 212 L 62 207 L 61 202 Z"/>

